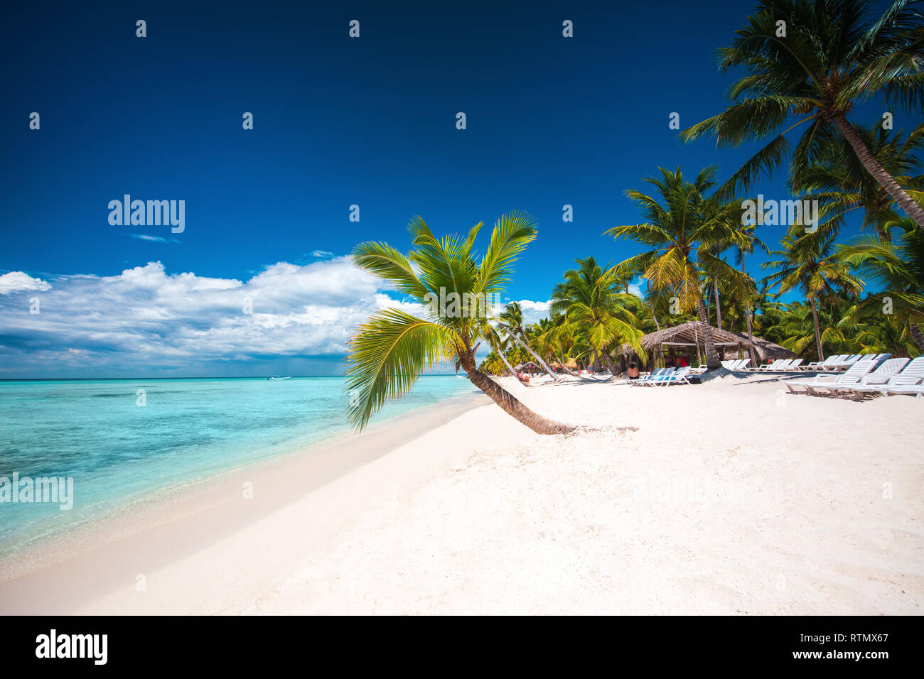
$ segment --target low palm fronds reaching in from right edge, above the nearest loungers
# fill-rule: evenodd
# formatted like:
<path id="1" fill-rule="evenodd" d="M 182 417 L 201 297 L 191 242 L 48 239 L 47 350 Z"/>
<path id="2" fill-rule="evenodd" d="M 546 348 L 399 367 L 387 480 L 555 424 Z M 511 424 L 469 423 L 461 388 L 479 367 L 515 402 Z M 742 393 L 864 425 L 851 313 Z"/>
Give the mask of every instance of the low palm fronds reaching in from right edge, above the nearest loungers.
<path id="1" fill-rule="evenodd" d="M 924 229 L 906 224 L 905 233 L 894 243 L 874 237 L 860 237 L 842 246 L 839 256 L 857 268 L 881 291 L 866 297 L 860 311 L 876 309 L 907 324 L 918 350 L 924 351 Z"/>

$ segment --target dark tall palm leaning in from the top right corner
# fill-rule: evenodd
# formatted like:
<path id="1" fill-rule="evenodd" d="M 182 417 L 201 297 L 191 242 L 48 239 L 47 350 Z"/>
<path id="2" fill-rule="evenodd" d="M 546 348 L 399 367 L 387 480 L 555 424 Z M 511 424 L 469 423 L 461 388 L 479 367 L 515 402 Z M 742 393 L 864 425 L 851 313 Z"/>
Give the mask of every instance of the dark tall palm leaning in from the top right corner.
<path id="1" fill-rule="evenodd" d="M 858 103 L 878 96 L 896 110 L 920 115 L 924 16 L 914 4 L 894 0 L 870 21 L 864 0 L 762 0 L 732 44 L 719 52 L 724 72 L 744 70 L 729 91 L 732 104 L 681 137 L 710 135 L 720 146 L 738 146 L 774 135 L 726 182 L 724 188 L 734 193 L 784 164 L 790 129 L 808 123 L 791 161 L 799 168 L 813 164 L 823 128 L 836 127 L 869 174 L 924 226 L 924 208 L 882 167 L 847 119 Z"/>

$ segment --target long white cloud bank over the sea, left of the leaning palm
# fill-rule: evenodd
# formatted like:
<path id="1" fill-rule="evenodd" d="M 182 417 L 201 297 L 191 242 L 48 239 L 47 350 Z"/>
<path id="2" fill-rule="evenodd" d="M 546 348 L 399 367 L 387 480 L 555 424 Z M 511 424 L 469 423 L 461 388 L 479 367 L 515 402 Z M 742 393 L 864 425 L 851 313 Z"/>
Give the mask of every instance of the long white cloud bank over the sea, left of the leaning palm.
<path id="1" fill-rule="evenodd" d="M 21 272 L 0 276 L 0 374 L 30 364 L 193 370 L 229 359 L 342 355 L 354 326 L 401 304 L 346 257 L 281 261 L 246 282 L 167 273 L 160 261 L 52 280 L 54 288 Z M 35 291 L 38 314 L 21 294 Z"/>

